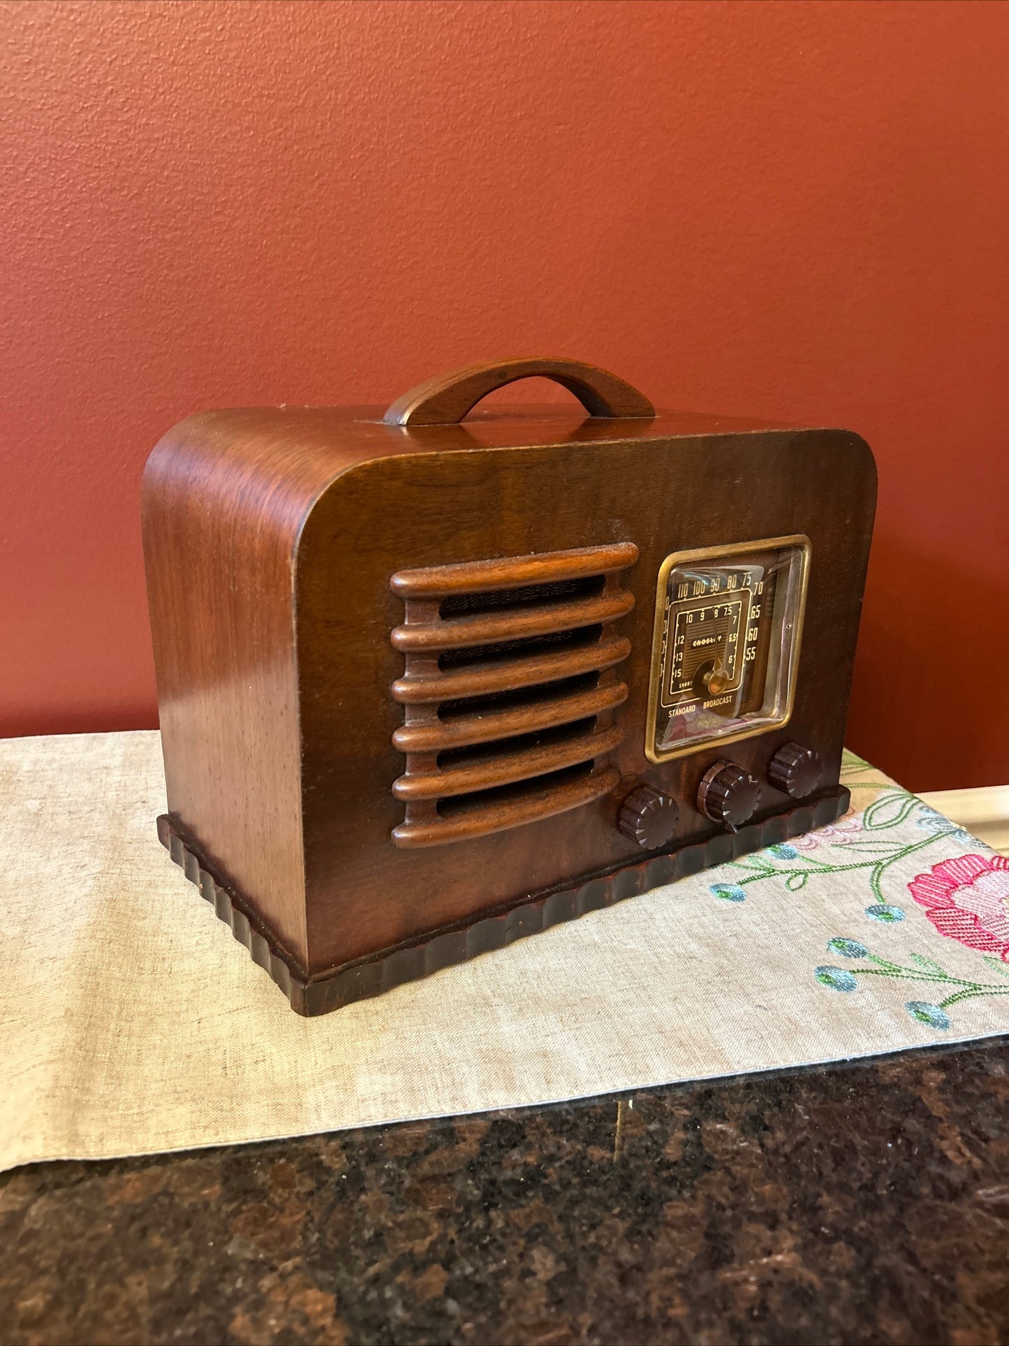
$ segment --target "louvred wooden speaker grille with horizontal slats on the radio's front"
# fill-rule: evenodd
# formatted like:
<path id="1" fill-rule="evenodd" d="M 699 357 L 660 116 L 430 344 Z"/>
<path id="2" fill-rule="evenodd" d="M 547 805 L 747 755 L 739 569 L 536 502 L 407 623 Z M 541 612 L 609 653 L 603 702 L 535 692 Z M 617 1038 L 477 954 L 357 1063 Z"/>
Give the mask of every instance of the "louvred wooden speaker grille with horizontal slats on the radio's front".
<path id="1" fill-rule="evenodd" d="M 608 793 L 607 754 L 627 699 L 616 665 L 631 651 L 613 623 L 634 596 L 620 572 L 632 542 L 398 571 L 405 619 L 393 743 L 400 847 L 440 845 L 521 826 Z"/>

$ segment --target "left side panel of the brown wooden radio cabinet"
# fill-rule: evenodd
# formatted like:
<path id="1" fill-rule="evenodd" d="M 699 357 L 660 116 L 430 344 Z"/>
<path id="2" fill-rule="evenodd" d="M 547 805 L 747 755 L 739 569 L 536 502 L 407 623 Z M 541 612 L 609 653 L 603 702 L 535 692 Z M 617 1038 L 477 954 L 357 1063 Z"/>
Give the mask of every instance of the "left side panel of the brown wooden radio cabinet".
<path id="1" fill-rule="evenodd" d="M 165 781 L 179 824 L 307 968 L 293 612 L 283 595 L 320 462 L 301 435 L 278 435 L 257 460 L 242 427 L 241 415 L 183 421 L 144 474 Z"/>

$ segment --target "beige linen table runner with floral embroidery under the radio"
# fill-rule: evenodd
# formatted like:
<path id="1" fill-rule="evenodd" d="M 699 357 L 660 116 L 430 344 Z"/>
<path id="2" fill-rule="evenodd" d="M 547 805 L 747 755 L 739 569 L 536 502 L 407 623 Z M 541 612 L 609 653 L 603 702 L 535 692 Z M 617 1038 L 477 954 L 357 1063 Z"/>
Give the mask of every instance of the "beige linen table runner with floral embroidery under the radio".
<path id="1" fill-rule="evenodd" d="M 538 1104 L 1009 1030 L 1009 861 L 856 812 L 301 1019 L 159 845 L 156 732 L 0 742 L 0 1167 Z"/>

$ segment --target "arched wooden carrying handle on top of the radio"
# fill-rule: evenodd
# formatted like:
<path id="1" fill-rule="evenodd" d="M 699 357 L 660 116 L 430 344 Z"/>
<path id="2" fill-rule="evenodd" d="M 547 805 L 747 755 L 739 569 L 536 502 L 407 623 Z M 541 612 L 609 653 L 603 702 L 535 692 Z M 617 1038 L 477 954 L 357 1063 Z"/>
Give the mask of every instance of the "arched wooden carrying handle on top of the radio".
<path id="1" fill-rule="evenodd" d="M 552 378 L 574 393 L 591 416 L 654 416 L 655 408 L 644 393 L 616 374 L 583 365 L 577 359 L 503 359 L 494 365 L 471 365 L 440 378 L 429 378 L 397 397 L 383 420 L 386 425 L 452 425 L 492 393 L 517 378 Z"/>

